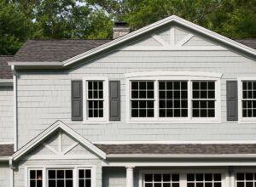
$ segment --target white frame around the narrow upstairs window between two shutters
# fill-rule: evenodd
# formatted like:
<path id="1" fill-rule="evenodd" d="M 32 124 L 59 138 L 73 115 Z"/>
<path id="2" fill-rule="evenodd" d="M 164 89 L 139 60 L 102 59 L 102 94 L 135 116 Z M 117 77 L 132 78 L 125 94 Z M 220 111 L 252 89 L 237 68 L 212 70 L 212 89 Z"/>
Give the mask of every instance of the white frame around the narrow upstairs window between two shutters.
<path id="1" fill-rule="evenodd" d="M 103 82 L 103 117 L 89 117 L 87 110 L 87 97 L 88 97 L 88 81 L 102 81 Z M 83 115 L 84 123 L 105 123 L 109 122 L 109 106 L 108 106 L 108 77 L 84 77 L 83 78 Z"/>

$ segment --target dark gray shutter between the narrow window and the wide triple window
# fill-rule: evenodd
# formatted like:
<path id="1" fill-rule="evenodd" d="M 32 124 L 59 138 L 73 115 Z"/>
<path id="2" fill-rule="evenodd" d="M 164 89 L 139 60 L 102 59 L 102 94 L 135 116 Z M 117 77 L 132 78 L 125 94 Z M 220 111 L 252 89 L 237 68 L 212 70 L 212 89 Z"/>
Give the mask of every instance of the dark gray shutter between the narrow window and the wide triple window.
<path id="1" fill-rule="evenodd" d="M 109 121 L 119 121 L 120 114 L 120 82 L 109 82 Z"/>

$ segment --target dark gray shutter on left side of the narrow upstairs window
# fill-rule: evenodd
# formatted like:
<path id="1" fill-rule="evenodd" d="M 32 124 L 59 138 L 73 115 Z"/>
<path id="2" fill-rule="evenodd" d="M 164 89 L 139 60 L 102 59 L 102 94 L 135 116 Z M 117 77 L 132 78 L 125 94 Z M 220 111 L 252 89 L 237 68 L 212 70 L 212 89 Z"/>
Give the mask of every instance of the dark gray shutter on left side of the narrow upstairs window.
<path id="1" fill-rule="evenodd" d="M 83 82 L 80 80 L 72 81 L 71 84 L 72 100 L 72 120 L 83 120 Z"/>

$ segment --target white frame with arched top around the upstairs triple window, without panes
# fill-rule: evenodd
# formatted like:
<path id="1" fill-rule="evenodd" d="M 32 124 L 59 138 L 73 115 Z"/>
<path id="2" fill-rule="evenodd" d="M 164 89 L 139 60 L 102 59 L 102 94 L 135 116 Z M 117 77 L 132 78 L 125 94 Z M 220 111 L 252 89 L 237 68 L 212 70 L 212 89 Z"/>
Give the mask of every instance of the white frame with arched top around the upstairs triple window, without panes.
<path id="1" fill-rule="evenodd" d="M 184 74 L 186 76 L 184 76 Z M 127 123 L 219 123 L 221 119 L 220 77 L 222 74 L 197 71 L 149 71 L 126 74 Z M 154 81 L 154 117 L 131 117 L 131 81 Z M 159 81 L 188 81 L 188 117 L 159 117 Z M 215 117 L 192 117 L 192 82 L 215 81 Z"/>

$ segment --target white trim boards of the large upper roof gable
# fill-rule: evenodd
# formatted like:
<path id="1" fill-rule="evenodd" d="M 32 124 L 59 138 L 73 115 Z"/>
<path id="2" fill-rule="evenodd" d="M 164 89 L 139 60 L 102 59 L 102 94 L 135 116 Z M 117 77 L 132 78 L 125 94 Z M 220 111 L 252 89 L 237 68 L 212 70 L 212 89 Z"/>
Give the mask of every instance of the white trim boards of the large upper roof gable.
<path id="1" fill-rule="evenodd" d="M 78 62 L 79 60 L 81 59 L 86 59 L 86 58 L 89 58 L 91 57 L 92 55 L 95 55 L 95 54 L 98 54 L 98 53 L 101 53 L 102 51 L 108 49 L 108 48 L 113 48 L 123 42 L 126 42 L 128 40 L 131 40 L 132 38 L 135 38 L 135 37 L 138 37 L 140 35 L 142 35 L 143 33 L 146 33 L 148 31 L 152 31 L 160 26 L 165 26 L 166 24 L 170 24 L 170 23 L 177 23 L 178 25 L 180 26 L 184 26 L 184 27 L 187 27 L 191 30 L 194 30 L 194 31 L 197 31 L 199 33 L 201 33 L 202 35 L 205 35 L 207 37 L 211 37 L 212 39 L 215 39 L 216 41 L 219 41 L 219 42 L 224 42 L 225 44 L 233 47 L 233 48 L 237 48 L 237 49 L 240 49 L 241 51 L 244 51 L 246 52 L 247 54 L 253 54 L 255 57 L 256 57 L 256 50 L 253 49 L 253 48 L 249 48 L 247 47 L 246 45 L 243 45 L 239 42 L 236 42 L 234 40 L 231 40 L 230 38 L 228 37 L 224 37 L 222 35 L 219 35 L 218 33 L 214 32 L 214 31 L 210 31 L 210 30 L 207 30 L 206 28 L 202 27 L 202 26 L 198 26 L 194 23 L 191 23 L 189 22 L 188 20 L 183 20 L 182 18 L 176 16 L 176 15 L 172 15 L 170 17 L 167 17 L 166 19 L 163 19 L 163 20 L 159 20 L 149 26 L 145 26 L 137 31 L 133 31 L 123 37 L 119 37 L 111 42 L 107 42 L 99 47 L 96 47 L 96 48 L 92 48 L 90 49 L 89 51 L 86 51 L 84 52 L 83 54 L 79 54 L 79 55 L 76 55 L 70 59 L 67 59 L 67 60 L 64 60 L 62 61 L 60 64 L 58 63 L 58 65 L 60 65 L 60 67 L 65 67 L 67 65 L 72 65 L 73 63 L 76 63 Z M 174 33 L 174 29 L 171 28 L 170 30 L 171 32 L 171 45 L 174 45 L 175 41 L 174 41 L 174 38 L 173 38 L 173 33 Z M 190 37 L 190 36 L 189 36 Z M 129 47 L 131 48 L 131 47 Z M 139 49 L 139 48 L 137 48 Z M 161 48 L 149 48 L 150 50 L 206 50 L 206 48 L 204 47 L 185 47 L 183 46 L 183 48 L 166 48 L 165 46 L 164 47 L 161 47 Z M 207 48 L 207 50 L 221 50 L 221 49 L 224 49 L 222 47 L 219 47 L 219 46 L 209 46 Z M 32 65 L 47 65 L 46 63 L 33 63 Z M 9 62 L 9 65 L 26 65 L 26 63 L 24 62 Z"/>

